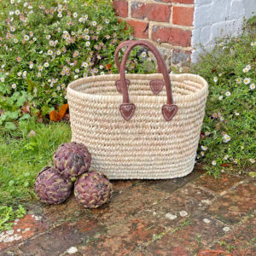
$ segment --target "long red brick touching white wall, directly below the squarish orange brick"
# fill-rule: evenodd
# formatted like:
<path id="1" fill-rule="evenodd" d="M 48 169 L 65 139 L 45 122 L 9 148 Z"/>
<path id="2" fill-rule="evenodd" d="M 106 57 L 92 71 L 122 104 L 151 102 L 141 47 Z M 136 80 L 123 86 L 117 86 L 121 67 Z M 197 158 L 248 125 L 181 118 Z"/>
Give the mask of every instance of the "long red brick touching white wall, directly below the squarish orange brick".
<path id="1" fill-rule="evenodd" d="M 158 43 L 169 43 L 183 47 L 190 46 L 191 31 L 174 27 L 154 26 L 152 39 Z"/>

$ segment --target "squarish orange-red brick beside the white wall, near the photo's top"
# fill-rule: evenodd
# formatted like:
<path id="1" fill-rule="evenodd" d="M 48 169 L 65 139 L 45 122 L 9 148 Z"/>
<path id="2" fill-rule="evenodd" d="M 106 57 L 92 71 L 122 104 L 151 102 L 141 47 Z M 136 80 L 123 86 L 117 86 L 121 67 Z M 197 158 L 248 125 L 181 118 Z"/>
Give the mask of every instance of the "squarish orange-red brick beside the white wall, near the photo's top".
<path id="1" fill-rule="evenodd" d="M 194 8 L 173 6 L 172 23 L 176 25 L 192 26 Z"/>

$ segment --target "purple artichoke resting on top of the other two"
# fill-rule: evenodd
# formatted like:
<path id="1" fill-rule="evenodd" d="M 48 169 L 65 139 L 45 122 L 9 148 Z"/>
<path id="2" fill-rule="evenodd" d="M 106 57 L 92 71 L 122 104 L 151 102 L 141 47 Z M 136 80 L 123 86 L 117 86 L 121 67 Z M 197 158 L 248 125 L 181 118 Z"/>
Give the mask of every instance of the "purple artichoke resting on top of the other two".
<path id="1" fill-rule="evenodd" d="M 82 143 L 64 143 L 54 154 L 55 168 L 64 177 L 77 177 L 90 168 L 90 153 Z"/>

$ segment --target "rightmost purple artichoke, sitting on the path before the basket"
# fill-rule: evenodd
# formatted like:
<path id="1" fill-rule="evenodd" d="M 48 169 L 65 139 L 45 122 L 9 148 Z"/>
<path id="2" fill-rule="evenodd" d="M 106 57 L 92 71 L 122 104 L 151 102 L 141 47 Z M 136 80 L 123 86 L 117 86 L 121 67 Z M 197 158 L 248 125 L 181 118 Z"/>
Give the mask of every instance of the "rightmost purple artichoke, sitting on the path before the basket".
<path id="1" fill-rule="evenodd" d="M 75 183 L 74 195 L 86 208 L 101 207 L 112 195 L 113 186 L 101 172 L 85 172 Z"/>

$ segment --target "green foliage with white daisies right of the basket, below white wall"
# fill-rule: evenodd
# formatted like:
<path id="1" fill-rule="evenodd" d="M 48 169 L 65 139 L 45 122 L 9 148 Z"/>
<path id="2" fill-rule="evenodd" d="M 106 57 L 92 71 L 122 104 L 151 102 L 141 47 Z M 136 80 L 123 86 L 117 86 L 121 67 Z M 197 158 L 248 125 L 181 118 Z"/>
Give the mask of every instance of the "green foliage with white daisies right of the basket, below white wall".
<path id="1" fill-rule="evenodd" d="M 220 42 L 193 72 L 209 84 L 197 158 L 209 173 L 247 170 L 256 152 L 256 33 Z"/>

